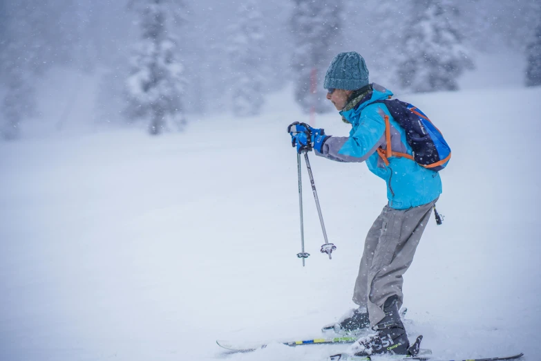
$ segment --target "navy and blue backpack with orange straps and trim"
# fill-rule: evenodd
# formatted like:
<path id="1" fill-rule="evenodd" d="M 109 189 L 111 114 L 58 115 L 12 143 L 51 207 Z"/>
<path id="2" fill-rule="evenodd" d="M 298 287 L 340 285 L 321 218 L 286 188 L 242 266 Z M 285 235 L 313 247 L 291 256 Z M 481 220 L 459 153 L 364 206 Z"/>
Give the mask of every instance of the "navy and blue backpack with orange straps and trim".
<path id="1" fill-rule="evenodd" d="M 430 119 L 417 107 L 410 103 L 394 100 L 377 100 L 374 103 L 383 103 L 389 109 L 392 118 L 406 131 L 406 140 L 413 150 L 413 156 L 405 153 L 392 151 L 390 141 L 389 117 L 385 115 L 387 149 L 379 147 L 377 152 L 386 165 L 391 156 L 404 157 L 414 160 L 416 163 L 439 172 L 444 169 L 450 160 L 450 147 Z"/>

